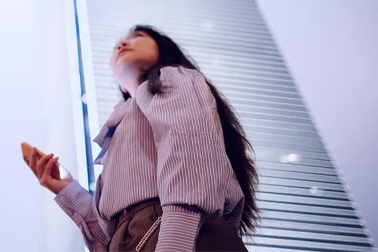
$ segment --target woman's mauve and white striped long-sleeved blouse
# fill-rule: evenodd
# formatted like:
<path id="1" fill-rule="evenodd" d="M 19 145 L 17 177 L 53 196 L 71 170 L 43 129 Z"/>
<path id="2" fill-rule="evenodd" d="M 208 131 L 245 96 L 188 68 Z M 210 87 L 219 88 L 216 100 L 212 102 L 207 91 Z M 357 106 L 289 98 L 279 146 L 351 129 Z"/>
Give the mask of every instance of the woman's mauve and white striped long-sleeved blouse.
<path id="1" fill-rule="evenodd" d="M 164 94 L 141 83 L 93 140 L 102 148 L 95 164 L 103 165 L 95 195 L 73 180 L 54 198 L 90 251 L 106 251 L 117 213 L 154 197 L 163 210 L 156 251 L 193 251 L 201 225 L 222 215 L 239 229 L 244 195 L 210 88 L 182 66 L 161 68 L 160 80 Z"/>

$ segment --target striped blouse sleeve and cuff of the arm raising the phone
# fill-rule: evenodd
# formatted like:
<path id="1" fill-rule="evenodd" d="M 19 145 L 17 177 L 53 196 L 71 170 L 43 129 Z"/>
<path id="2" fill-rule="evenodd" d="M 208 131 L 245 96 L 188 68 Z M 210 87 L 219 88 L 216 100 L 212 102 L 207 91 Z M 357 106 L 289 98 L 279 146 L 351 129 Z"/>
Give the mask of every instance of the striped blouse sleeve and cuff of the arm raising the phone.
<path id="1" fill-rule="evenodd" d="M 82 232 L 85 245 L 92 252 L 107 250 L 110 237 L 105 235 L 93 213 L 93 196 L 71 181 L 54 198 L 54 201 L 67 213 Z"/>

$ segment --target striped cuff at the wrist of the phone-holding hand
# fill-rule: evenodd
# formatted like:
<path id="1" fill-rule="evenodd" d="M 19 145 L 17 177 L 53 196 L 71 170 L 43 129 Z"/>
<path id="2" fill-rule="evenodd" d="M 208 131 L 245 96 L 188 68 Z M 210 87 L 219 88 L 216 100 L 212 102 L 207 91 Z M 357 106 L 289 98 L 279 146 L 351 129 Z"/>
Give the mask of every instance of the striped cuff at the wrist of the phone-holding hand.
<path id="1" fill-rule="evenodd" d="M 54 197 L 54 201 L 76 224 L 79 224 L 93 208 L 93 196 L 76 180 L 68 183 Z"/>

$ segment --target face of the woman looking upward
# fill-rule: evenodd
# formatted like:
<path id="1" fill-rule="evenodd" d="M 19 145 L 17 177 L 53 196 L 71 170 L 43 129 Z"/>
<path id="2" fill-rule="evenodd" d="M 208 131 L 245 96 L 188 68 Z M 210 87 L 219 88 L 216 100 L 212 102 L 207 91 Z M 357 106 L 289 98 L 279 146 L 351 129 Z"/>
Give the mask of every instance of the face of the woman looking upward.
<path id="1" fill-rule="evenodd" d="M 158 59 L 159 49 L 155 40 L 144 31 L 133 31 L 116 43 L 110 67 L 117 79 L 122 72 L 149 70 Z"/>

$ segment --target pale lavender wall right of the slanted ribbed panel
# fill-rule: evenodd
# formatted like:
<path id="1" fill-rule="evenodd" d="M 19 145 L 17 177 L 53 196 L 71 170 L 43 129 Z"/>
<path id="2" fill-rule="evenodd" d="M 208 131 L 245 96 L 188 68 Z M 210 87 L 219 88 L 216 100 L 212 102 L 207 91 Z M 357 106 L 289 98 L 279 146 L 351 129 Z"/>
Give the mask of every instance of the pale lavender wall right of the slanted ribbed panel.
<path id="1" fill-rule="evenodd" d="M 257 0 L 378 242 L 378 1 Z"/>

